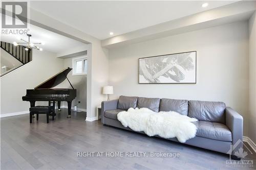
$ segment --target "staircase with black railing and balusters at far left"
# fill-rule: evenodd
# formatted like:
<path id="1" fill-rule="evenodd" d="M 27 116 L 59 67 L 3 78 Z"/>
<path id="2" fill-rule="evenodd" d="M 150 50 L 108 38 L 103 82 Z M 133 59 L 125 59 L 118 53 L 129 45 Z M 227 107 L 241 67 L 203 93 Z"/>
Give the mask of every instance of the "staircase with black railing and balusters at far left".
<path id="1" fill-rule="evenodd" d="M 15 46 L 12 43 L 1 41 L 1 48 L 4 51 L 6 51 L 8 54 L 10 54 L 10 57 L 14 57 L 16 60 L 18 60 L 21 63 L 20 66 L 27 64 L 32 60 L 32 50 L 30 48 L 28 51 L 25 50 L 26 48 L 25 46 L 22 46 L 22 45 Z M 14 67 L 9 71 L 4 72 L 3 74 L 1 73 L 1 77 L 13 71 L 16 68 L 18 67 Z"/>

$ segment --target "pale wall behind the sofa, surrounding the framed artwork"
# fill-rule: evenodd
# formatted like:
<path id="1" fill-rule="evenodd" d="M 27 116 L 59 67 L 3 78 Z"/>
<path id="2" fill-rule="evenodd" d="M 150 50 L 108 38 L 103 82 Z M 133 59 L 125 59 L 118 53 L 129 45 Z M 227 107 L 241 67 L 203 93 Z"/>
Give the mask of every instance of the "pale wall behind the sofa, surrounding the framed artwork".
<path id="1" fill-rule="evenodd" d="M 197 51 L 197 84 L 138 84 L 138 59 Z M 223 101 L 248 112 L 248 22 L 235 22 L 109 51 L 109 84 L 119 95 Z"/>

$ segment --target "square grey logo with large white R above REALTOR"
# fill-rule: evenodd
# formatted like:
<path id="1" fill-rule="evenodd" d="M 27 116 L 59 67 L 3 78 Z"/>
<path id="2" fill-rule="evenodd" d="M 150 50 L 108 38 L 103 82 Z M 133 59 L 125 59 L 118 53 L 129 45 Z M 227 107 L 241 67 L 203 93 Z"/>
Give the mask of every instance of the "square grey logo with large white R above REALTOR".
<path id="1" fill-rule="evenodd" d="M 2 10 L 2 28 L 27 28 L 27 2 L 2 2 Z"/>

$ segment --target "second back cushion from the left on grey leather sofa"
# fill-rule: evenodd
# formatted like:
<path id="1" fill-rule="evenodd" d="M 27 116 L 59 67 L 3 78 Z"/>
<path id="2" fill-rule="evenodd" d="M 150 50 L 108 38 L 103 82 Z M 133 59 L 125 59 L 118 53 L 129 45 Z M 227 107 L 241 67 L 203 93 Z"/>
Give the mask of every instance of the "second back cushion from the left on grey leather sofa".
<path id="1" fill-rule="evenodd" d="M 138 98 L 138 108 L 148 108 L 153 110 L 154 112 L 159 111 L 159 104 L 160 99 L 159 98 Z"/>

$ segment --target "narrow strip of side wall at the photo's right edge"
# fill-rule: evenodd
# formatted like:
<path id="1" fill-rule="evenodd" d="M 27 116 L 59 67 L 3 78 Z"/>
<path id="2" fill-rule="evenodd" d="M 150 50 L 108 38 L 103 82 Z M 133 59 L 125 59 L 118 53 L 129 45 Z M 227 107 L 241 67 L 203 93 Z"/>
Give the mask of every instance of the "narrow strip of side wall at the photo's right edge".
<path id="1" fill-rule="evenodd" d="M 249 20 L 249 134 L 256 143 L 256 12 Z"/>

